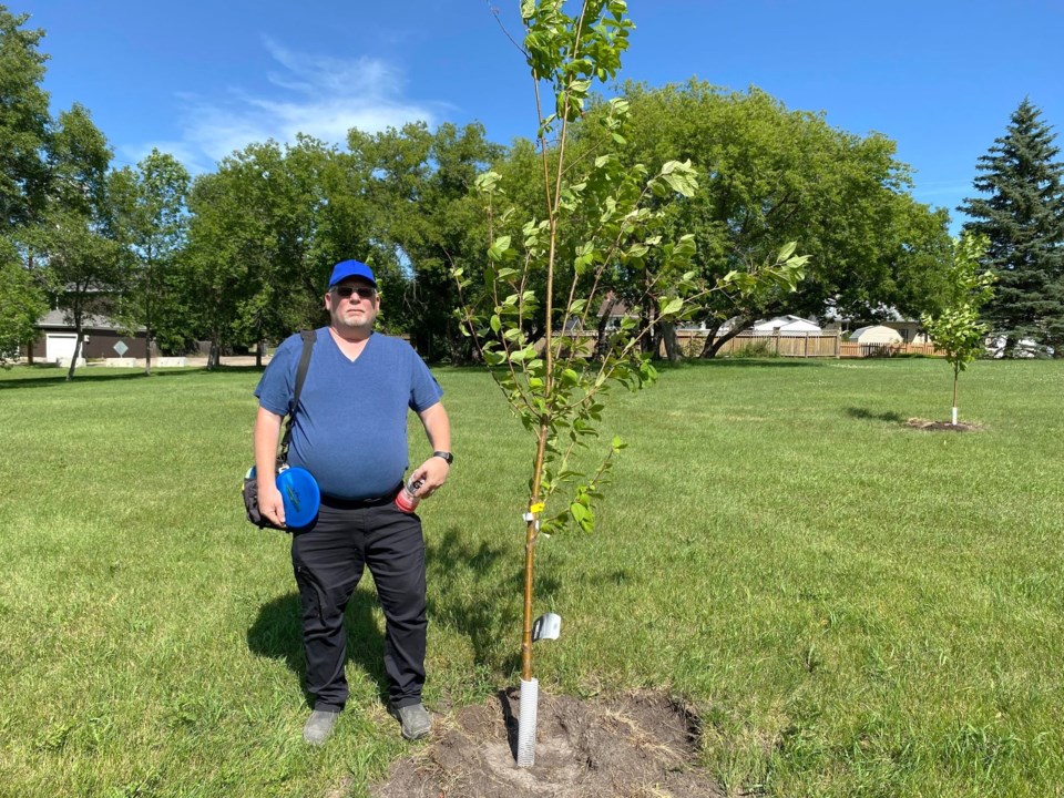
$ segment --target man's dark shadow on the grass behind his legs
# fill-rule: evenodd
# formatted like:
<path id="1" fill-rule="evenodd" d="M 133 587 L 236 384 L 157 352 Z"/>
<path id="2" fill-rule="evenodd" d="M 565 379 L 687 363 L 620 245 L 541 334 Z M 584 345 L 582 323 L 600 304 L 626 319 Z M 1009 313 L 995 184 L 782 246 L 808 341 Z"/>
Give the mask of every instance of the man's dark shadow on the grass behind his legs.
<path id="1" fill-rule="evenodd" d="M 388 695 L 388 678 L 385 674 L 385 637 L 374 617 L 377 596 L 362 584 L 356 589 L 344 614 L 347 632 L 347 662 L 354 662 L 377 684 L 381 697 Z M 307 693 L 306 663 L 303 655 L 303 624 L 300 622 L 299 594 L 278 596 L 258 610 L 258 617 L 247 631 L 247 646 L 259 656 L 284 659 L 288 669 L 299 678 L 299 688 L 314 706 Z"/>

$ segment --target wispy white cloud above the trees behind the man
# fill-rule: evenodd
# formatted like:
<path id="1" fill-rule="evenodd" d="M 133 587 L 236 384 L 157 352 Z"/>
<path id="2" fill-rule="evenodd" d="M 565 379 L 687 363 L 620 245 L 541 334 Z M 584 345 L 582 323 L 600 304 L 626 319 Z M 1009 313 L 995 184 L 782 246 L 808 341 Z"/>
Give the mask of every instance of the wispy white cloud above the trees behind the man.
<path id="1" fill-rule="evenodd" d="M 253 142 L 293 142 L 306 133 L 342 145 L 351 127 L 375 133 L 417 120 L 432 126 L 446 108 L 403 96 L 403 73 L 386 61 L 300 53 L 272 39 L 264 45 L 276 63 L 266 75 L 275 92 L 232 88 L 219 98 L 185 94 L 180 141 L 126 146 L 123 153 L 140 160 L 157 146 L 203 172 Z"/>

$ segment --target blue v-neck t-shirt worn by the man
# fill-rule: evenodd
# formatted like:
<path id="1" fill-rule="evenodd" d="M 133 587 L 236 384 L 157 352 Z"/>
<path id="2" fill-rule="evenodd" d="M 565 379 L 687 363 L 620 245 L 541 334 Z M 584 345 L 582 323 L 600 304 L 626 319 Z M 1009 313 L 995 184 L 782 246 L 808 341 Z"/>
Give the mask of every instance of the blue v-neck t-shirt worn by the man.
<path id="1" fill-rule="evenodd" d="M 326 495 L 355 500 L 385 495 L 408 467 L 408 410 L 432 407 L 443 391 L 405 340 L 375 332 L 352 362 L 328 327 L 316 334 L 288 462 L 313 473 Z M 298 335 L 277 347 L 255 389 L 266 410 L 288 412 L 301 354 Z"/>

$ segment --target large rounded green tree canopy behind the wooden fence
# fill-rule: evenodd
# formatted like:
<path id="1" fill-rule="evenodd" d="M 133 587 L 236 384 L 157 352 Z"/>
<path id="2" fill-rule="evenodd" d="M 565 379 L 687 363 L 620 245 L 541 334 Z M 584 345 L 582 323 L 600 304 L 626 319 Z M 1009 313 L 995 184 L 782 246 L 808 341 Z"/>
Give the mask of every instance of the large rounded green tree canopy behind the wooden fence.
<path id="1" fill-rule="evenodd" d="M 669 156 L 689 158 L 703 174 L 695 195 L 669 213 L 676 229 L 694 233 L 704 277 L 756 272 L 784 241 L 809 256 L 797 294 L 751 294 L 741 303 L 716 295 L 704 308 L 710 326 L 736 315 L 826 308 L 861 318 L 889 308 L 919 315 L 941 303 L 948 217 L 908 194 L 909 167 L 886 136 L 833 129 L 822 114 L 789 111 L 758 89 L 628 83 L 624 96 L 633 163 L 653 168 Z M 590 124 L 581 132 L 595 135 Z"/>

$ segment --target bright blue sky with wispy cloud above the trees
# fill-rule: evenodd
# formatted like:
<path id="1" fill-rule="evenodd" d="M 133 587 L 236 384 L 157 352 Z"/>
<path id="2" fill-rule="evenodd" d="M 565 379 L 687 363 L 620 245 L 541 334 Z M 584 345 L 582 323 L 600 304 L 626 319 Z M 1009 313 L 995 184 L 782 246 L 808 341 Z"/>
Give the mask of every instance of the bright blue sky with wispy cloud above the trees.
<path id="1" fill-rule="evenodd" d="M 6 0 L 45 29 L 53 112 L 86 105 L 119 162 L 153 146 L 192 171 L 297 131 L 341 143 L 422 119 L 535 130 L 531 83 L 500 21 L 518 0 Z M 499 19 L 492 13 L 499 11 Z M 950 209 L 976 158 L 1030 96 L 1064 145 L 1061 0 L 630 0 L 622 78 L 757 85 L 884 133 L 913 195 Z"/>

